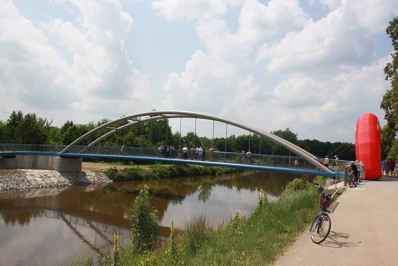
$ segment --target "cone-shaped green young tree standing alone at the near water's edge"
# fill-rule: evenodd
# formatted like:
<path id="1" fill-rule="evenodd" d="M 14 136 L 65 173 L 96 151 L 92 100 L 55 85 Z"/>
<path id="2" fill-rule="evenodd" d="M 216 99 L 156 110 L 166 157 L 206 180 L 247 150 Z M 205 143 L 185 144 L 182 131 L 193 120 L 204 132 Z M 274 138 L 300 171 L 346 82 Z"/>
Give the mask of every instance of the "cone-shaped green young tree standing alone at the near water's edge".
<path id="1" fill-rule="evenodd" d="M 149 187 L 144 186 L 135 199 L 131 210 L 131 240 L 137 251 L 150 250 L 159 236 L 159 225 L 155 210 L 150 206 Z"/>

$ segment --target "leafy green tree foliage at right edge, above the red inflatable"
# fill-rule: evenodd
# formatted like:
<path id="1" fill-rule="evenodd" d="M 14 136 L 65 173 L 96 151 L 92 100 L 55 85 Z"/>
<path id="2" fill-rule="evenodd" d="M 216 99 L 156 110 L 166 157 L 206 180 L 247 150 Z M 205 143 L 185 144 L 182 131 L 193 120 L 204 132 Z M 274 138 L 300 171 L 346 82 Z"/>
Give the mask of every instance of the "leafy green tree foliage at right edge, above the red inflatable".
<path id="1" fill-rule="evenodd" d="M 398 17 L 390 21 L 390 25 L 386 29 L 392 41 L 395 52 L 391 54 L 392 62 L 387 63 L 384 68 L 386 80 L 391 81 L 391 89 L 386 91 L 383 96 L 380 107 L 386 112 L 384 118 L 387 120 L 389 127 L 398 131 Z"/>

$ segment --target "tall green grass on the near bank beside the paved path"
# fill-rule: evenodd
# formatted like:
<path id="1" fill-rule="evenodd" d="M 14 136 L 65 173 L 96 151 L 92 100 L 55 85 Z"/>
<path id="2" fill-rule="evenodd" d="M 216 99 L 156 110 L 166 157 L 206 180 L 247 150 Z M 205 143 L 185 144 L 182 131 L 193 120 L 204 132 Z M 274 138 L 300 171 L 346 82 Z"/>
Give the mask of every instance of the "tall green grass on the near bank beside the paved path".
<path id="1" fill-rule="evenodd" d="M 301 178 L 305 180 L 305 178 Z M 289 185 L 288 185 L 289 186 Z M 278 260 L 307 228 L 319 211 L 319 192 L 312 183 L 264 201 L 247 217 L 235 217 L 216 228 L 199 214 L 175 231 L 177 243 L 171 264 L 169 240 L 159 240 L 151 251 L 139 253 L 126 247 L 120 265 L 270 265 Z M 309 237 L 309 235 L 308 235 Z M 167 252 L 168 251 L 168 252 Z M 100 265 L 112 264 L 111 252 L 100 256 Z"/>

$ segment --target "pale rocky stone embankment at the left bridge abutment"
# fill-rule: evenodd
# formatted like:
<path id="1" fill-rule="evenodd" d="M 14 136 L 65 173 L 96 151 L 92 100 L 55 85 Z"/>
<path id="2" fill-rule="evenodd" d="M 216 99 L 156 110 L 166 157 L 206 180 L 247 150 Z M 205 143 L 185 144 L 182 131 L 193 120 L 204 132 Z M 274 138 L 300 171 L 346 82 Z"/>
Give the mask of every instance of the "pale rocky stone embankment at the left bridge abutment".
<path id="1" fill-rule="evenodd" d="M 53 170 L 21 170 L 0 172 L 0 190 L 110 183 L 102 172 L 58 172 Z"/>

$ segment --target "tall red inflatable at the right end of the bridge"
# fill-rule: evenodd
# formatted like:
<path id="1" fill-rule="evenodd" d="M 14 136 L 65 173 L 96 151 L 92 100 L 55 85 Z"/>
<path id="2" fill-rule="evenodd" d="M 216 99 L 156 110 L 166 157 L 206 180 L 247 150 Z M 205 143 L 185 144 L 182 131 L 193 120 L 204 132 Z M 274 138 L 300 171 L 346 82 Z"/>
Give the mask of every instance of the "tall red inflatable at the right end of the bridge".
<path id="1" fill-rule="evenodd" d="M 366 113 L 358 119 L 355 153 L 357 160 L 365 164 L 365 180 L 382 177 L 380 124 L 374 114 Z"/>

